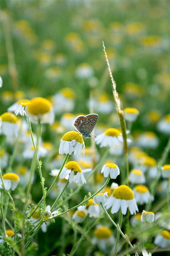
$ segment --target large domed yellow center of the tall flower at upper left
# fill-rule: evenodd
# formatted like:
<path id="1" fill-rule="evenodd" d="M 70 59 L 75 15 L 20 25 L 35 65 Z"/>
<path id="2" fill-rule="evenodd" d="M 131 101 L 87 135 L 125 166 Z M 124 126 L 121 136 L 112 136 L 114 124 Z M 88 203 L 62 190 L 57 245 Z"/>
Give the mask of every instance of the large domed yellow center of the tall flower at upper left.
<path id="1" fill-rule="evenodd" d="M 37 97 L 30 100 L 28 105 L 28 112 L 34 116 L 45 114 L 52 108 L 51 102 L 49 100 Z"/>

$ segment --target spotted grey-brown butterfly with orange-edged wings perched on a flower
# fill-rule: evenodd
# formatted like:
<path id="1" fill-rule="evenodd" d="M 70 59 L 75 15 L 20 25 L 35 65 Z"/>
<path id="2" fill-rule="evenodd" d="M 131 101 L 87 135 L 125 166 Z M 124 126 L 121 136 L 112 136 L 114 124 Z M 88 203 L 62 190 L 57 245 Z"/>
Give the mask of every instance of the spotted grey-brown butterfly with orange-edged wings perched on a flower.
<path id="1" fill-rule="evenodd" d="M 77 131 L 85 138 L 90 138 L 90 133 L 93 131 L 96 122 L 98 121 L 98 114 L 87 114 L 87 116 L 77 116 L 73 125 Z"/>

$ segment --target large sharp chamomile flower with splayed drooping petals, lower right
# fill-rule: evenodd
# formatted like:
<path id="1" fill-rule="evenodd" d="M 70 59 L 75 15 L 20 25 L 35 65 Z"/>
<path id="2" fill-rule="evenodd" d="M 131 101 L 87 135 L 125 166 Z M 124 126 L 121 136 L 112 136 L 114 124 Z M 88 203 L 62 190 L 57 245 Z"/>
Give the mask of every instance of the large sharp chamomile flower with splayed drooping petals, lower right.
<path id="1" fill-rule="evenodd" d="M 109 209 L 110 207 L 112 207 L 112 214 L 118 212 L 119 208 L 121 208 L 122 214 L 125 215 L 128 207 L 132 215 L 138 212 L 133 191 L 126 185 L 121 185 L 113 191 L 112 196 L 109 198 L 106 204 L 106 209 Z"/>

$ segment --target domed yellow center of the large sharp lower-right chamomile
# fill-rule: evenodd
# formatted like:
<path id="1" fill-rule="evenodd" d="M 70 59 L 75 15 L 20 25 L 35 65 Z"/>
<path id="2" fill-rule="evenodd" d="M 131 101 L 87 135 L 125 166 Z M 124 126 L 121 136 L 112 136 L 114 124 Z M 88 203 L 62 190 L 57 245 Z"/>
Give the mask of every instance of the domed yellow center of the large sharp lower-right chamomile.
<path id="1" fill-rule="evenodd" d="M 121 200 L 132 200 L 134 194 L 131 188 L 126 185 L 121 185 L 113 191 L 113 197 Z"/>

